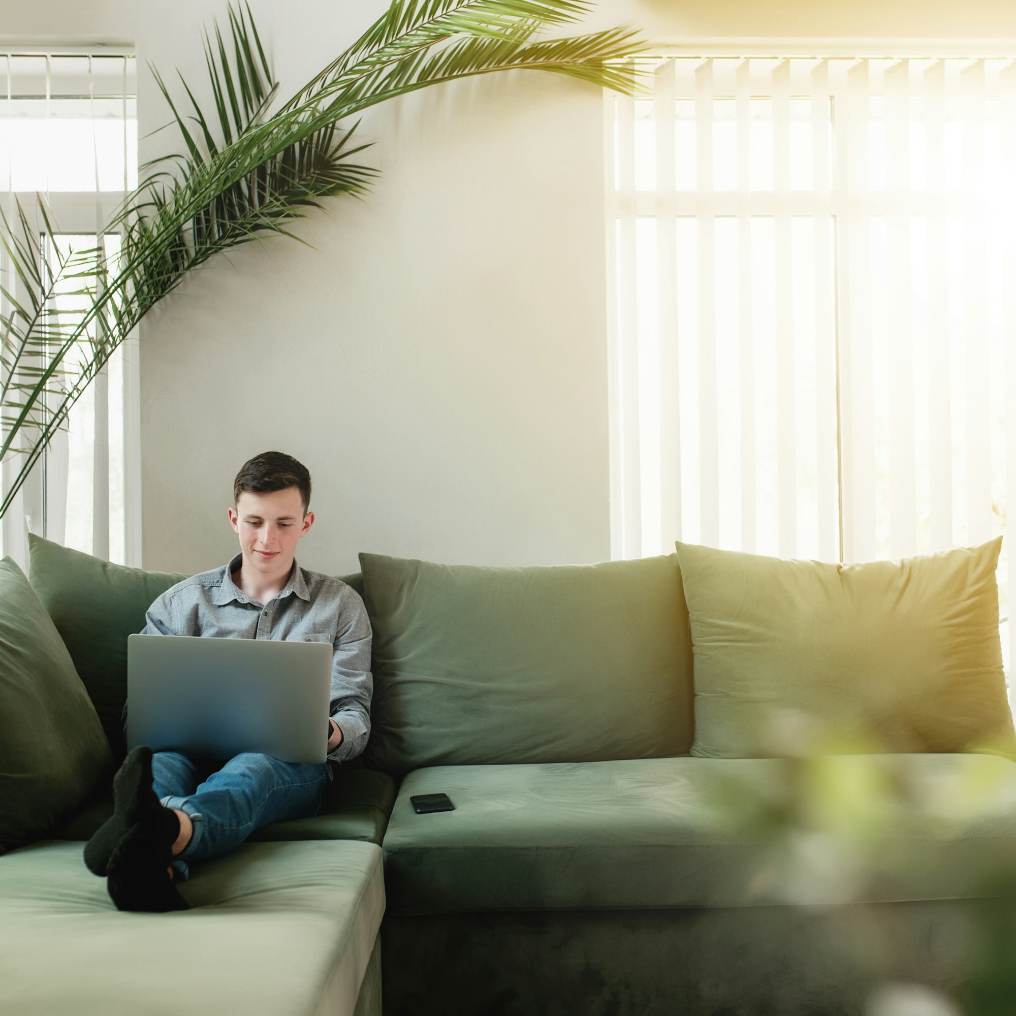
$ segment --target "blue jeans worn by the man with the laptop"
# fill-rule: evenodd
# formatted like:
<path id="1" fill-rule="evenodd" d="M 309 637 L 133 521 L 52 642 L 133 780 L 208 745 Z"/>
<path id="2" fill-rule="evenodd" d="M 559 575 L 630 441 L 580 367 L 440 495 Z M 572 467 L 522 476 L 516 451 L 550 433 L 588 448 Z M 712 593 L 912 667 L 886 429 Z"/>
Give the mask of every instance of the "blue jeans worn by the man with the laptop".
<path id="1" fill-rule="evenodd" d="M 178 752 L 155 752 L 151 773 L 162 804 L 186 812 L 194 826 L 190 842 L 173 859 L 181 881 L 190 874 L 189 861 L 229 853 L 269 822 L 316 815 L 331 778 L 327 762 L 279 762 L 254 752 L 228 762 L 194 762 Z"/>

